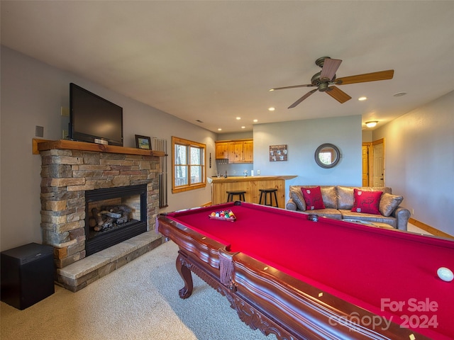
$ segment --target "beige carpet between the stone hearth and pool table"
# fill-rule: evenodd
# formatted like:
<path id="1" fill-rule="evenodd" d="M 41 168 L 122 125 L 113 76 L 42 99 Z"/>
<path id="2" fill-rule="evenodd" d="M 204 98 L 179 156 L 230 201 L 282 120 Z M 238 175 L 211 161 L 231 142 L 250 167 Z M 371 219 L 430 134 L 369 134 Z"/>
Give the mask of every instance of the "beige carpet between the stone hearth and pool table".
<path id="1" fill-rule="evenodd" d="M 167 242 L 72 293 L 55 294 L 26 310 L 1 302 L 1 340 L 268 339 L 240 321 L 226 297 L 193 274 L 194 292 L 178 296 L 177 246 Z"/>

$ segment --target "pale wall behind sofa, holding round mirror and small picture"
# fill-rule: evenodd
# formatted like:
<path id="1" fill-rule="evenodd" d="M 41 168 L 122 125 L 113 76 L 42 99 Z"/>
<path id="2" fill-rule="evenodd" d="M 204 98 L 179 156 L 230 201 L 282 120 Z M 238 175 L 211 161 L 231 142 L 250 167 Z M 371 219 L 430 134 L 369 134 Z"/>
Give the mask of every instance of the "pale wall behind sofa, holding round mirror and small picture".
<path id="1" fill-rule="evenodd" d="M 315 162 L 315 151 L 324 143 L 336 145 L 341 160 L 331 169 Z M 270 162 L 270 145 L 287 145 L 287 162 Z M 361 185 L 361 116 L 297 120 L 254 125 L 254 173 L 297 175 L 289 185 Z"/>

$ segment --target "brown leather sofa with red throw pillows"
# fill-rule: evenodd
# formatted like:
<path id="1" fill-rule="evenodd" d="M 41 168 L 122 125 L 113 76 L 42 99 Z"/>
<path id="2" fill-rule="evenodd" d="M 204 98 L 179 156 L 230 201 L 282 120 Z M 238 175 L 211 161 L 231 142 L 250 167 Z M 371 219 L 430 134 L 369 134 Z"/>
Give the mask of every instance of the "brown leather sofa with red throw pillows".
<path id="1" fill-rule="evenodd" d="M 355 186 L 320 186 L 325 209 L 306 210 L 306 203 L 301 188 L 315 188 L 316 186 L 290 186 L 287 210 L 301 211 L 319 216 L 330 217 L 336 220 L 350 220 L 365 223 L 386 223 L 395 229 L 406 230 L 410 218 L 410 211 L 400 206 L 402 196 L 392 195 L 389 187 L 355 187 Z M 362 191 L 382 191 L 380 198 L 380 214 L 353 212 L 353 189 Z"/>

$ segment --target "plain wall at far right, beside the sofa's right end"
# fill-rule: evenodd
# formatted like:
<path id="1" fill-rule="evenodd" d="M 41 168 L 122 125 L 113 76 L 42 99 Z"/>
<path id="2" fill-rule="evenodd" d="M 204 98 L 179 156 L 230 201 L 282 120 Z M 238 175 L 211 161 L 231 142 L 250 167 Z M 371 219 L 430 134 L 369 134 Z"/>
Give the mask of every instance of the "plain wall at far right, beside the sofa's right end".
<path id="1" fill-rule="evenodd" d="M 454 235 L 454 91 L 373 132 L 384 138 L 386 185 L 415 220 Z"/>

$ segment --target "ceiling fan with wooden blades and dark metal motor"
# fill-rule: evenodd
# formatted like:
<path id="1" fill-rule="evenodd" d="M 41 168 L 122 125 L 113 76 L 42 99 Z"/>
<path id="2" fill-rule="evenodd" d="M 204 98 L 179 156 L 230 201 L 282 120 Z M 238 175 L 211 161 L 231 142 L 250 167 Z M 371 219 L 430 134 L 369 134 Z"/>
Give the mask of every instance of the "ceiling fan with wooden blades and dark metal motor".
<path id="1" fill-rule="evenodd" d="M 338 87 L 334 85 L 356 84 L 365 83 L 366 81 L 387 80 L 392 79 L 392 77 L 394 76 L 394 69 L 388 69 L 387 71 L 357 74 L 355 76 L 342 77 L 336 79 L 336 71 L 338 70 L 339 66 L 341 66 L 341 62 L 342 60 L 331 59 L 330 57 L 321 57 L 317 59 L 315 62 L 317 66 L 321 67 L 321 72 L 314 74 L 314 76 L 311 78 L 311 84 L 277 87 L 275 89 L 270 89 L 270 91 L 316 86 L 316 89 L 309 91 L 307 94 L 299 98 L 291 106 L 289 106 L 289 108 L 294 108 L 299 103 L 301 103 L 301 101 L 304 101 L 304 99 L 311 96 L 311 94 L 314 94 L 314 92 L 316 92 L 317 90 L 320 92 L 326 92 L 326 94 L 329 94 L 339 103 L 345 103 L 345 101 L 349 101 L 352 97 L 348 96 L 348 94 L 345 94 L 344 91 L 338 89 Z"/>

